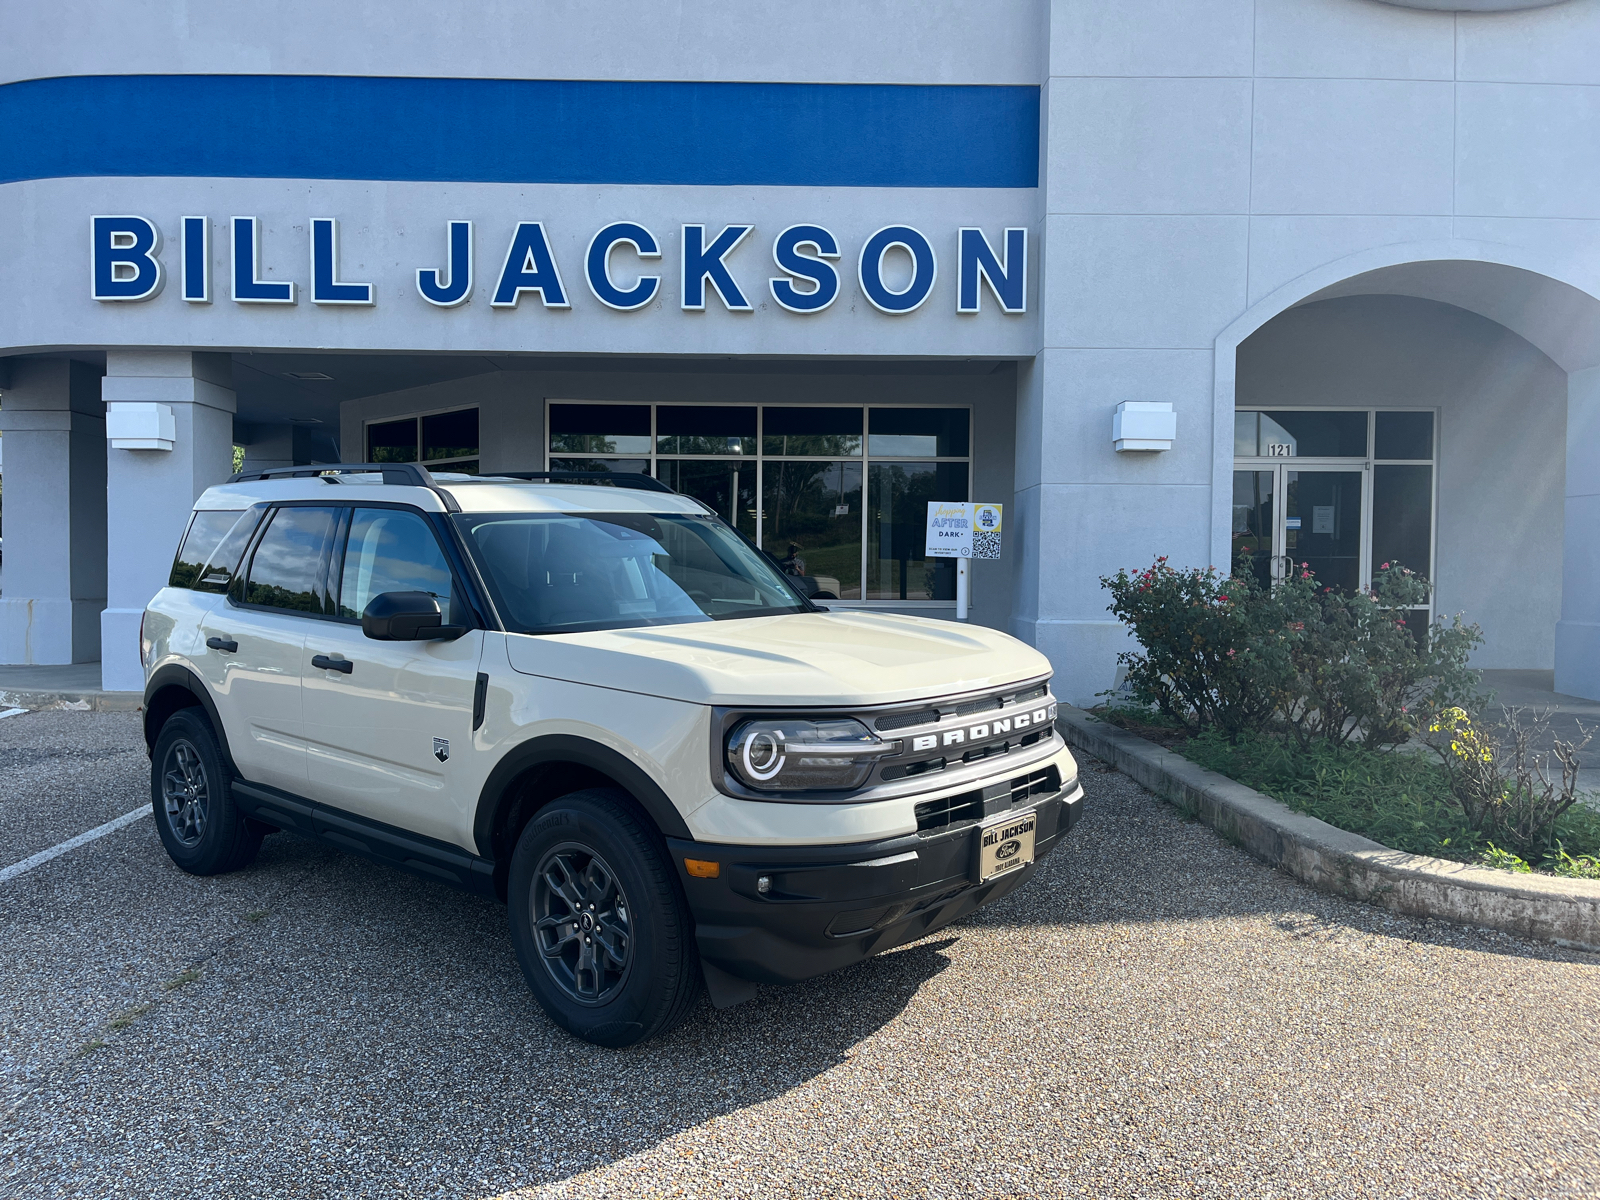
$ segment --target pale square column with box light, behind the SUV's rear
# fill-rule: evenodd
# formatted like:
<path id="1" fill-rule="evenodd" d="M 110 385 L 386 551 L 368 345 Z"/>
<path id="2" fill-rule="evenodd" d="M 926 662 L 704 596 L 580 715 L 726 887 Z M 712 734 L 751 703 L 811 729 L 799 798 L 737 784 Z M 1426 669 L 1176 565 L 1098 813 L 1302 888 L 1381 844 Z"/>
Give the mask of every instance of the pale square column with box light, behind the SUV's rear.
<path id="1" fill-rule="evenodd" d="M 173 450 L 104 450 L 107 608 L 101 618 L 101 686 L 144 688 L 139 618 L 166 586 L 195 498 L 234 472 L 234 371 L 226 354 L 107 350 L 106 403 L 173 410 Z"/>

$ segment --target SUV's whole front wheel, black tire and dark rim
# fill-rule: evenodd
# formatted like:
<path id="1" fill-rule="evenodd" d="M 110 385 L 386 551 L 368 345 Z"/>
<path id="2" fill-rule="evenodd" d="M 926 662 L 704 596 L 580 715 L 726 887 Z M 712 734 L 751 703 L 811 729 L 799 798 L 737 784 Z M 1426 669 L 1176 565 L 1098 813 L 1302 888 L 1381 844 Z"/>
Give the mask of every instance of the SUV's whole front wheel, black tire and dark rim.
<path id="1" fill-rule="evenodd" d="M 694 923 L 626 792 L 590 787 L 541 808 L 517 840 L 509 885 L 517 962 L 562 1029 L 630 1046 L 688 1016 L 701 992 Z"/>

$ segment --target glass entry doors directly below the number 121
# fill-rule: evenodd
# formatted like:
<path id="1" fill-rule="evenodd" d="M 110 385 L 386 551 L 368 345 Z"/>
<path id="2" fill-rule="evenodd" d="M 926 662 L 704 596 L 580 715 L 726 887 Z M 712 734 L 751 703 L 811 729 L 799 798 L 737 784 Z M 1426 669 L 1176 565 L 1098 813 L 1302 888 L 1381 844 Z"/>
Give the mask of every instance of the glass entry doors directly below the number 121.
<path id="1" fill-rule="evenodd" d="M 1234 552 L 1264 586 L 1310 570 L 1325 587 L 1362 586 L 1362 470 L 1275 464 L 1234 472 Z M 1243 528 L 1240 528 L 1243 525 Z"/>

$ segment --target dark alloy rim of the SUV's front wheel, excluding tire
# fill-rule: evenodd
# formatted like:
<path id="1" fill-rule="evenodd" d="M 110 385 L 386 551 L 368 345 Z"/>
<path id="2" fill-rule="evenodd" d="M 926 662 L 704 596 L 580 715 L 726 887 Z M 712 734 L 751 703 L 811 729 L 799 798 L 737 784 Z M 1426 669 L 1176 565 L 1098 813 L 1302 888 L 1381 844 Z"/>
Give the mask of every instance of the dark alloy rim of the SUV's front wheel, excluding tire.
<path id="1" fill-rule="evenodd" d="M 546 851 L 533 882 L 533 928 L 555 986 L 581 1005 L 603 1005 L 627 981 L 634 931 L 606 861 L 579 842 Z"/>

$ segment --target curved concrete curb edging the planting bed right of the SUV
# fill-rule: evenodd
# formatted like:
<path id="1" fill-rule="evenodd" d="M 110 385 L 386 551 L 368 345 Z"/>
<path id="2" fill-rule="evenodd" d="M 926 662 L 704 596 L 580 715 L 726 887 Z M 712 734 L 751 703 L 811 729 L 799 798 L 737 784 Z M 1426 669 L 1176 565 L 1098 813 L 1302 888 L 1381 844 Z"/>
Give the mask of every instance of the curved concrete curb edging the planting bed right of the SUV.
<path id="1" fill-rule="evenodd" d="M 1222 837 L 1318 891 L 1408 917 L 1437 917 L 1520 938 L 1600 950 L 1600 882 L 1514 875 L 1389 850 L 1296 813 L 1173 750 L 1062 704 L 1058 726 L 1074 746 L 1194 813 Z"/>

